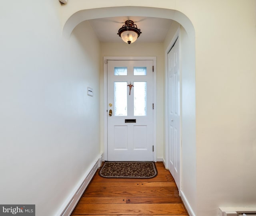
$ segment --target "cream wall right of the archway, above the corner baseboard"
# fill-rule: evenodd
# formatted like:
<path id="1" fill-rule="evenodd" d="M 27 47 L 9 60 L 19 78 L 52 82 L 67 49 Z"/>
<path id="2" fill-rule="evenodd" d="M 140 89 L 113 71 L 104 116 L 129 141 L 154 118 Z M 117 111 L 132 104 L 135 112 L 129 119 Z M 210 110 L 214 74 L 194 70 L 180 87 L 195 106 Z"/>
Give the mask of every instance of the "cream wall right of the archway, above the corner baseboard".
<path id="1" fill-rule="evenodd" d="M 198 215 L 256 206 L 256 1 L 202 3 L 196 29 Z"/>

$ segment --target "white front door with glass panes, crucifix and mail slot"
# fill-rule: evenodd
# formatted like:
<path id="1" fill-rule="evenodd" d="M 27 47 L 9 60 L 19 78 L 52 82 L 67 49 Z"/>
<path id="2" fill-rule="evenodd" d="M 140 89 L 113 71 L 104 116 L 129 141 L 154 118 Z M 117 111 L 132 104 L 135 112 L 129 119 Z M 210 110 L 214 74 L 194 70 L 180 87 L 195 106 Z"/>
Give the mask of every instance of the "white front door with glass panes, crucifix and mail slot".
<path id="1" fill-rule="evenodd" d="M 153 61 L 107 61 L 108 161 L 153 161 Z"/>

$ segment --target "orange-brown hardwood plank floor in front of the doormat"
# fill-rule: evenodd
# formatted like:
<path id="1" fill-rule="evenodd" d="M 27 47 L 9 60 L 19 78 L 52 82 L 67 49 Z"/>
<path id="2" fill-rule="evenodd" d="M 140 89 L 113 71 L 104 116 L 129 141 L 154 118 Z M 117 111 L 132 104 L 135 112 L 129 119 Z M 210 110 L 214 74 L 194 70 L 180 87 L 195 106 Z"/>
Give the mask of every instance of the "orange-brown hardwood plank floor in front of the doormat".
<path id="1" fill-rule="evenodd" d="M 71 216 L 188 216 L 170 172 L 157 162 L 153 179 L 106 179 L 97 173 Z"/>

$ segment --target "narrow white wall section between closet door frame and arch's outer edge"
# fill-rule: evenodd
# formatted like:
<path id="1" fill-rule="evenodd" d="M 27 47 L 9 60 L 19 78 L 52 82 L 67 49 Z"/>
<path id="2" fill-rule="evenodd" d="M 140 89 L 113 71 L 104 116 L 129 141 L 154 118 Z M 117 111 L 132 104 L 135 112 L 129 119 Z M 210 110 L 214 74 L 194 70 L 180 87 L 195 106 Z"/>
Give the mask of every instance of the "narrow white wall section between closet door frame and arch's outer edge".
<path id="1" fill-rule="evenodd" d="M 194 47 L 185 29 L 180 27 L 181 77 L 182 77 L 182 149 L 181 189 L 189 200 L 192 210 L 196 208 L 196 80 Z M 194 212 L 195 213 L 195 212 Z"/>

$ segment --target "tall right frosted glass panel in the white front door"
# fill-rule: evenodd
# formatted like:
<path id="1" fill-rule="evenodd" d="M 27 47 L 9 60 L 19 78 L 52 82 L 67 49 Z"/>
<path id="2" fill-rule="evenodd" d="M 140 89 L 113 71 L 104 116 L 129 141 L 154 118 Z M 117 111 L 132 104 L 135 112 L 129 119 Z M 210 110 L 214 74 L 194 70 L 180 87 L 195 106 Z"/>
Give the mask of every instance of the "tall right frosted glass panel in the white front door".
<path id="1" fill-rule="evenodd" d="M 147 114 L 147 82 L 134 82 L 134 116 Z"/>

